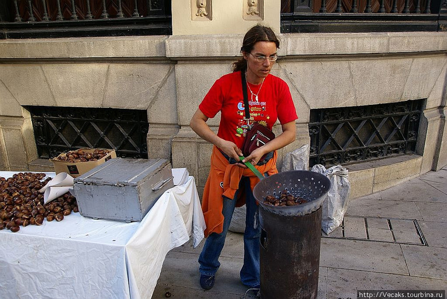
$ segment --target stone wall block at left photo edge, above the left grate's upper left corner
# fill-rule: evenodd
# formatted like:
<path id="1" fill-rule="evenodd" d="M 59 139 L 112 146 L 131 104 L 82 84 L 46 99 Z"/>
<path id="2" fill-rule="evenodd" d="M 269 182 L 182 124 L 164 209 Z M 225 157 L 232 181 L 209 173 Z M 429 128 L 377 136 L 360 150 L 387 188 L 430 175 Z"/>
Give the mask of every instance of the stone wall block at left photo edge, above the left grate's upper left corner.
<path id="1" fill-rule="evenodd" d="M 19 105 L 53 106 L 56 104 L 41 65 L 0 64 L 0 80 Z M 15 104 L 12 103 L 12 105 Z M 17 113 L 17 108 L 13 109 L 14 113 Z"/>

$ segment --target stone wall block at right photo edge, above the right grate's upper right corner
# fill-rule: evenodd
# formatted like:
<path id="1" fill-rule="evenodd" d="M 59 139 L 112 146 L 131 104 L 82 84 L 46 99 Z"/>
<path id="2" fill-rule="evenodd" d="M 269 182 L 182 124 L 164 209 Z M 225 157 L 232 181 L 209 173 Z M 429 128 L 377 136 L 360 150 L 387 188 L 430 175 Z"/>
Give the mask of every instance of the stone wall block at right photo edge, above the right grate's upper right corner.
<path id="1" fill-rule="evenodd" d="M 427 108 L 439 106 L 445 79 L 442 74 L 445 74 L 445 69 L 444 55 L 414 58 L 401 100 L 416 100 L 430 96 Z"/>

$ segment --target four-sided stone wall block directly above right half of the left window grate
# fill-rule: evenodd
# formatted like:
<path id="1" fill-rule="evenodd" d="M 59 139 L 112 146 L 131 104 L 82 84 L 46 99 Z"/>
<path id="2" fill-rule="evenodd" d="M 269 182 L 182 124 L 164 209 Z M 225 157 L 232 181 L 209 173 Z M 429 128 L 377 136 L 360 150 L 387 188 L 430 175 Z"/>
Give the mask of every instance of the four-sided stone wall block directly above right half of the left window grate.
<path id="1" fill-rule="evenodd" d="M 102 106 L 123 109 L 148 109 L 152 107 L 160 88 L 166 84 L 171 68 L 171 65 L 161 63 L 110 64 L 105 81 L 105 94 L 101 98 Z M 171 87 L 175 88 L 175 85 Z M 102 89 L 100 91 L 102 92 Z M 172 93 L 167 98 L 171 99 Z M 175 101 L 164 100 L 165 104 L 171 106 L 172 102 L 175 104 Z M 168 113 L 166 112 L 171 111 L 169 108 L 171 107 L 166 107 L 166 109 L 157 111 L 157 113 L 164 114 L 167 118 L 166 114 Z"/>

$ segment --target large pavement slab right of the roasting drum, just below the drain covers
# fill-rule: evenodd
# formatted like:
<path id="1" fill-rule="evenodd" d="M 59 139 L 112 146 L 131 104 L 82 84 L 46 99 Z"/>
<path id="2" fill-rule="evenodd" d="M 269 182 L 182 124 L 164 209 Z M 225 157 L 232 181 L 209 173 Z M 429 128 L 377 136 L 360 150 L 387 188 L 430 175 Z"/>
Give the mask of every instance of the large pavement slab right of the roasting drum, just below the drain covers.
<path id="1" fill-rule="evenodd" d="M 399 244 L 321 238 L 320 266 L 408 275 Z"/>

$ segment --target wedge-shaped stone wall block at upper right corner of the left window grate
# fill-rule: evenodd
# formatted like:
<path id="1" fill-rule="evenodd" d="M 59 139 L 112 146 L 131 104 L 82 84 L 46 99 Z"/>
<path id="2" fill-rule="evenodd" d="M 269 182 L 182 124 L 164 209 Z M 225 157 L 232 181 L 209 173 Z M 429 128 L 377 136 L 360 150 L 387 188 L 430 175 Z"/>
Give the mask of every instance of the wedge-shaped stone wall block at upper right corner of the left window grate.
<path id="1" fill-rule="evenodd" d="M 175 86 L 175 72 L 172 66 L 157 93 L 149 102 L 149 126 L 152 124 L 178 123 L 177 92 Z"/>

